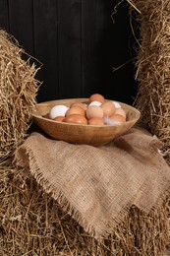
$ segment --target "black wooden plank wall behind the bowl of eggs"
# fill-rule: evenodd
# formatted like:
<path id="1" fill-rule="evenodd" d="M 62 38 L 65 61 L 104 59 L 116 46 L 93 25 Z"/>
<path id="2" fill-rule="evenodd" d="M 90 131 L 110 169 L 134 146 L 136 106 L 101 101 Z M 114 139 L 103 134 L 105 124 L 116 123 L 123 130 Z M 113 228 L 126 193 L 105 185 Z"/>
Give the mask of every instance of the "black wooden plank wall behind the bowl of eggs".
<path id="1" fill-rule="evenodd" d="M 134 37 L 126 1 L 111 19 L 117 2 L 0 0 L 0 28 L 43 64 L 38 101 L 99 93 L 133 102 Z"/>

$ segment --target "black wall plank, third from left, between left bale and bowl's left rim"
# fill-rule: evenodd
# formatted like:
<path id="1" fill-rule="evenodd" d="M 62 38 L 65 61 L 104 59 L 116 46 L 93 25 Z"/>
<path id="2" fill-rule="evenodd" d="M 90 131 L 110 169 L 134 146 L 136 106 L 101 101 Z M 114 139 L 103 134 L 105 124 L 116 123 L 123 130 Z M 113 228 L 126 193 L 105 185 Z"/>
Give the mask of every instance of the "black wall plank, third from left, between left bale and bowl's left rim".
<path id="1" fill-rule="evenodd" d="M 37 100 L 59 98 L 58 16 L 56 0 L 33 1 L 34 55 L 43 64 Z"/>

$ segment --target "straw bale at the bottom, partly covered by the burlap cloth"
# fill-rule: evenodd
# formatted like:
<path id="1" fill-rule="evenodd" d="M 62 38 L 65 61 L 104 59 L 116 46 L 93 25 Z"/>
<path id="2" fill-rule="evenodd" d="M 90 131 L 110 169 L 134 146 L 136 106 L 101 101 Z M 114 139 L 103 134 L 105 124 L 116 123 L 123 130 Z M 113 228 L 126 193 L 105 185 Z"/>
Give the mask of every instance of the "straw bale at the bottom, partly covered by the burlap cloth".
<path id="1" fill-rule="evenodd" d="M 0 255 L 163 255 L 168 201 L 149 215 L 132 207 L 124 222 L 97 241 L 66 215 L 29 174 L 0 169 Z"/>

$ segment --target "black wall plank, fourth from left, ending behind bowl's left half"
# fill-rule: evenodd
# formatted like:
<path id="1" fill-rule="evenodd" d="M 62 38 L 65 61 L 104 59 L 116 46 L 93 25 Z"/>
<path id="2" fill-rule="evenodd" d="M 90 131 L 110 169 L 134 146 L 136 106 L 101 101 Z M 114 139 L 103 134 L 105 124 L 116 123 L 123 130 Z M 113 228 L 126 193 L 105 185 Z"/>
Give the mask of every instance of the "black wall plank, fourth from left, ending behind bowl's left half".
<path id="1" fill-rule="evenodd" d="M 58 0 L 60 97 L 82 96 L 82 2 Z"/>

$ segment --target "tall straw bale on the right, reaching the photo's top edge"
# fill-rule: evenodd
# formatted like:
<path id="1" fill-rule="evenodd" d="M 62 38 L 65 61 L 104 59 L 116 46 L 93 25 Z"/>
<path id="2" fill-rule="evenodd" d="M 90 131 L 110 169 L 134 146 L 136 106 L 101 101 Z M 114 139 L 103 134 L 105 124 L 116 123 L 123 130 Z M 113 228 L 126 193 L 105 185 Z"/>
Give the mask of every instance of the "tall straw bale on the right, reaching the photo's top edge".
<path id="1" fill-rule="evenodd" d="M 162 153 L 170 164 L 170 1 L 134 0 L 140 25 L 135 105 L 141 125 L 164 142 Z"/>

